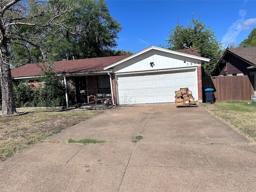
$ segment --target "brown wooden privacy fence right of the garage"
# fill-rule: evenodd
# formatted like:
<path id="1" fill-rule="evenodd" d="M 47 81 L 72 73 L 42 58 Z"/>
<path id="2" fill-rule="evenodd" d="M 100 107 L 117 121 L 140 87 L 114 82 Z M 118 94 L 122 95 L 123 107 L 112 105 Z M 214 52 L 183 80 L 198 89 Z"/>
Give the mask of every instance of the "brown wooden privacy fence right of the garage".
<path id="1" fill-rule="evenodd" d="M 254 76 L 203 77 L 203 101 L 205 101 L 206 88 L 214 89 L 215 102 L 251 101 L 251 96 L 254 95 Z"/>

